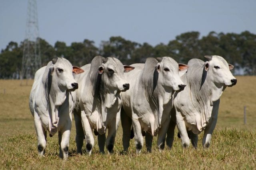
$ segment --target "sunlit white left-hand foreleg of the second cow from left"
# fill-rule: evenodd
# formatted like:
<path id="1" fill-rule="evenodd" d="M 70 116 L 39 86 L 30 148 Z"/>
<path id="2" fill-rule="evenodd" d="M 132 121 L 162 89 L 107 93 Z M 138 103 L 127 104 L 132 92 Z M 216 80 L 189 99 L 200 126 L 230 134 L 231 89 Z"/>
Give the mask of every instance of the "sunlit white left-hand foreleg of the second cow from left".
<path id="1" fill-rule="evenodd" d="M 91 155 L 92 148 L 94 147 L 94 137 L 92 134 L 92 128 L 90 126 L 89 120 L 86 117 L 84 111 L 81 111 L 81 120 L 82 120 L 82 127 L 84 129 L 85 141 L 86 141 L 86 152 Z"/>

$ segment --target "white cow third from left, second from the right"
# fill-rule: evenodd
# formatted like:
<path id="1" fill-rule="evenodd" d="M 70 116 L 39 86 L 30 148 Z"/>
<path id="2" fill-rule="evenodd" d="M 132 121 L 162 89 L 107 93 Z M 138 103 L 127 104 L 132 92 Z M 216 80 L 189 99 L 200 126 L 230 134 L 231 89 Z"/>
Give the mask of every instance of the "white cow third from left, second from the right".
<path id="1" fill-rule="evenodd" d="M 148 58 L 145 64 L 132 64 L 135 69 L 126 73 L 131 89 L 123 92 L 121 121 L 123 147 L 128 150 L 131 126 L 135 137 L 136 152 L 143 147 L 142 133 L 146 131 L 146 147 L 151 151 L 153 136 L 158 134 L 158 148 L 164 149 L 164 140 L 170 121 L 174 91 L 186 86 L 178 74 L 187 65 L 170 57 Z"/>

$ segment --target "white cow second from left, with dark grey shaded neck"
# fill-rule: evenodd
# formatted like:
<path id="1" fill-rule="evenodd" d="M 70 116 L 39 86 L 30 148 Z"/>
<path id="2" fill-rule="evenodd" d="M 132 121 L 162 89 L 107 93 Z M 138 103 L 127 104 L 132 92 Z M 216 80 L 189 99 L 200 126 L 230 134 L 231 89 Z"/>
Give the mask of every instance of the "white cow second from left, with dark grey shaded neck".
<path id="1" fill-rule="evenodd" d="M 76 91 L 77 105 L 74 110 L 77 152 L 82 154 L 85 136 L 86 152 L 92 153 L 94 147 L 92 129 L 94 129 L 94 133 L 98 135 L 100 152 L 104 152 L 106 143 L 106 148 L 111 153 L 120 121 L 122 106 L 120 92 L 129 89 L 124 72 L 134 67 L 123 66 L 113 57 L 96 56 L 91 64 L 82 66 L 82 69 L 86 72 L 75 77 L 79 86 L 81 84 Z M 108 129 L 107 139 L 106 129 Z"/>

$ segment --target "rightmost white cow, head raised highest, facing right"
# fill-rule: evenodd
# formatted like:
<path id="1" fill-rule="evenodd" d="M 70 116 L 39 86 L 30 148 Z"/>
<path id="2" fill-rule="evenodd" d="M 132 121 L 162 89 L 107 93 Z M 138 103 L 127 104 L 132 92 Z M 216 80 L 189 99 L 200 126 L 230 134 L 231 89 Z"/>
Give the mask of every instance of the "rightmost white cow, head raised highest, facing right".
<path id="1" fill-rule="evenodd" d="M 185 90 L 174 94 L 175 110 L 171 113 L 171 122 L 167 133 L 166 144 L 172 147 L 174 128 L 177 124 L 183 147 L 190 144 L 196 148 L 198 134 L 204 131 L 202 144 L 210 146 L 214 131 L 220 96 L 227 86 L 234 86 L 236 78 L 230 72 L 234 68 L 220 56 L 205 56 L 208 61 L 191 59 L 188 70 L 181 79 L 187 84 Z M 188 133 L 187 133 L 188 131 Z"/>

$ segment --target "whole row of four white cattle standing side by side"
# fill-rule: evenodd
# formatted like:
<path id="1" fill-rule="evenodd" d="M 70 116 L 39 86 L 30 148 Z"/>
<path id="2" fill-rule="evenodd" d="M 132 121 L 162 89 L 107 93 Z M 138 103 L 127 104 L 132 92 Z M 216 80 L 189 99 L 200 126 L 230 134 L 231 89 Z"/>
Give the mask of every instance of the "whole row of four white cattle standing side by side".
<path id="1" fill-rule="evenodd" d="M 140 153 L 146 140 L 151 152 L 153 136 L 161 151 L 170 149 L 177 125 L 182 146 L 190 140 L 197 147 L 204 131 L 203 147 L 210 146 L 220 96 L 237 80 L 220 56 L 205 56 L 178 64 L 171 57 L 148 58 L 144 64 L 123 65 L 114 57 L 94 57 L 91 64 L 72 66 L 64 58 L 54 58 L 40 68 L 34 78 L 29 106 L 38 138 L 38 154 L 44 156 L 47 131 L 58 131 L 59 156 L 68 158 L 72 113 L 76 123 L 77 153 L 92 153 L 94 135 L 100 152 L 113 152 L 116 131 L 122 124 L 123 148 L 134 138 Z M 108 135 L 106 137 L 106 129 Z M 94 133 L 94 135 L 93 135 Z"/>

